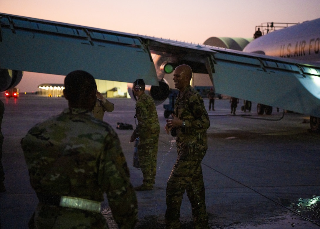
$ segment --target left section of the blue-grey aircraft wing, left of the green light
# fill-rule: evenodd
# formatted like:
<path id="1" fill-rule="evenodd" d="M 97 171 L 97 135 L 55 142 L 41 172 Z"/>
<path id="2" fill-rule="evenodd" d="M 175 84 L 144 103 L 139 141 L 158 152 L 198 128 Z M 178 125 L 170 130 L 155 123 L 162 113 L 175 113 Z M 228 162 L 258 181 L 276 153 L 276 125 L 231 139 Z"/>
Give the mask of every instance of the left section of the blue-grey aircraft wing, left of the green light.
<path id="1" fill-rule="evenodd" d="M 148 47 L 139 37 L 0 13 L 0 68 L 158 85 Z"/>

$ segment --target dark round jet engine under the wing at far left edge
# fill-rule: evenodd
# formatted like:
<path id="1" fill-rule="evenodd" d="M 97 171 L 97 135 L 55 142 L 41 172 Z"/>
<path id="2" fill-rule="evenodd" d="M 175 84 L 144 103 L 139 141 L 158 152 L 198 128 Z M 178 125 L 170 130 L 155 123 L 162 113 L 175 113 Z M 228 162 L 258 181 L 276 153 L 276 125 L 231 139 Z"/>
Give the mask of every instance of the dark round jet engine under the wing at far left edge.
<path id="1" fill-rule="evenodd" d="M 10 69 L 0 69 L 0 91 L 14 88 L 22 79 L 23 72 Z"/>

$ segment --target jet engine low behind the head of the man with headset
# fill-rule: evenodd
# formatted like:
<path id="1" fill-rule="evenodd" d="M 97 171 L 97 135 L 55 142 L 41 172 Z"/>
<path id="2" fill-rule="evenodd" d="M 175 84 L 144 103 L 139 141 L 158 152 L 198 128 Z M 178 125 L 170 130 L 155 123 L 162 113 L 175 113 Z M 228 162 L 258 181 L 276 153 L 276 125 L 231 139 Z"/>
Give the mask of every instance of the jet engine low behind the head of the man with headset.
<path id="1" fill-rule="evenodd" d="M 133 83 L 128 83 L 128 93 L 132 99 L 137 101 L 137 97 L 133 95 L 132 91 Z M 146 85 L 145 93 L 153 98 L 156 106 L 162 104 L 170 94 L 170 87 L 168 81 L 162 79 L 159 81 L 159 86 Z"/>

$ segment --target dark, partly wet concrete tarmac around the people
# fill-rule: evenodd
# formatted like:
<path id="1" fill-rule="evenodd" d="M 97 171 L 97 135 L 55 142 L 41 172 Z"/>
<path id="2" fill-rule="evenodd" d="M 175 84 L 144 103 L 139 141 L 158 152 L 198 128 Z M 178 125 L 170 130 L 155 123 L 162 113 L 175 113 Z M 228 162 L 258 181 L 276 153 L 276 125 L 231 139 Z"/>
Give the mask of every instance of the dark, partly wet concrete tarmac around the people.
<path id="1" fill-rule="evenodd" d="M 26 229 L 38 203 L 30 186 L 20 140 L 36 123 L 60 114 L 68 106 L 65 98 L 20 95 L 4 98 L 2 163 L 6 192 L 0 193 L 1 229 Z M 115 110 L 104 121 L 116 130 L 133 186 L 142 183 L 142 173 L 132 166 L 132 130 L 116 129 L 118 122 L 135 127 L 135 102 L 127 98 L 109 99 Z M 168 104 L 166 100 L 163 104 Z M 206 108 L 208 99 L 204 99 Z M 243 112 L 230 114 L 227 99 L 215 100 L 208 111 L 208 150 L 202 162 L 206 206 L 210 228 L 311 229 L 320 227 L 320 134 L 308 131 L 309 117 L 274 109 L 272 115 Z M 163 229 L 166 210 L 166 182 L 176 160 L 174 138 L 164 131 L 163 105 L 157 106 L 161 126 L 156 184 L 152 191 L 136 192 L 139 222 L 136 229 Z M 284 115 L 284 116 L 283 116 Z M 106 199 L 106 198 L 105 198 Z M 102 213 L 111 229 L 118 228 L 107 199 Z M 191 206 L 184 195 L 180 221 L 182 229 L 192 229 Z"/>

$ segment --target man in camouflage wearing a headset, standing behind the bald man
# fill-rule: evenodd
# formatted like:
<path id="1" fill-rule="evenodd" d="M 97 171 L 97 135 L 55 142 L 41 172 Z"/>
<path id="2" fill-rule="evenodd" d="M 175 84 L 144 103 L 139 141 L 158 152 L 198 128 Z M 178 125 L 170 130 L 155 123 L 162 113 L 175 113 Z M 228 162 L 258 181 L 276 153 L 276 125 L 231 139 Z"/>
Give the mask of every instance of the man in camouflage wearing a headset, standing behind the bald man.
<path id="1" fill-rule="evenodd" d="M 152 190 L 156 180 L 156 165 L 160 125 L 153 98 L 145 94 L 145 83 L 142 79 L 133 83 L 133 93 L 138 97 L 136 102 L 136 117 L 138 125 L 133 131 L 130 141 L 140 138 L 138 157 L 143 175 L 142 185 L 135 187 L 136 191 Z"/>

